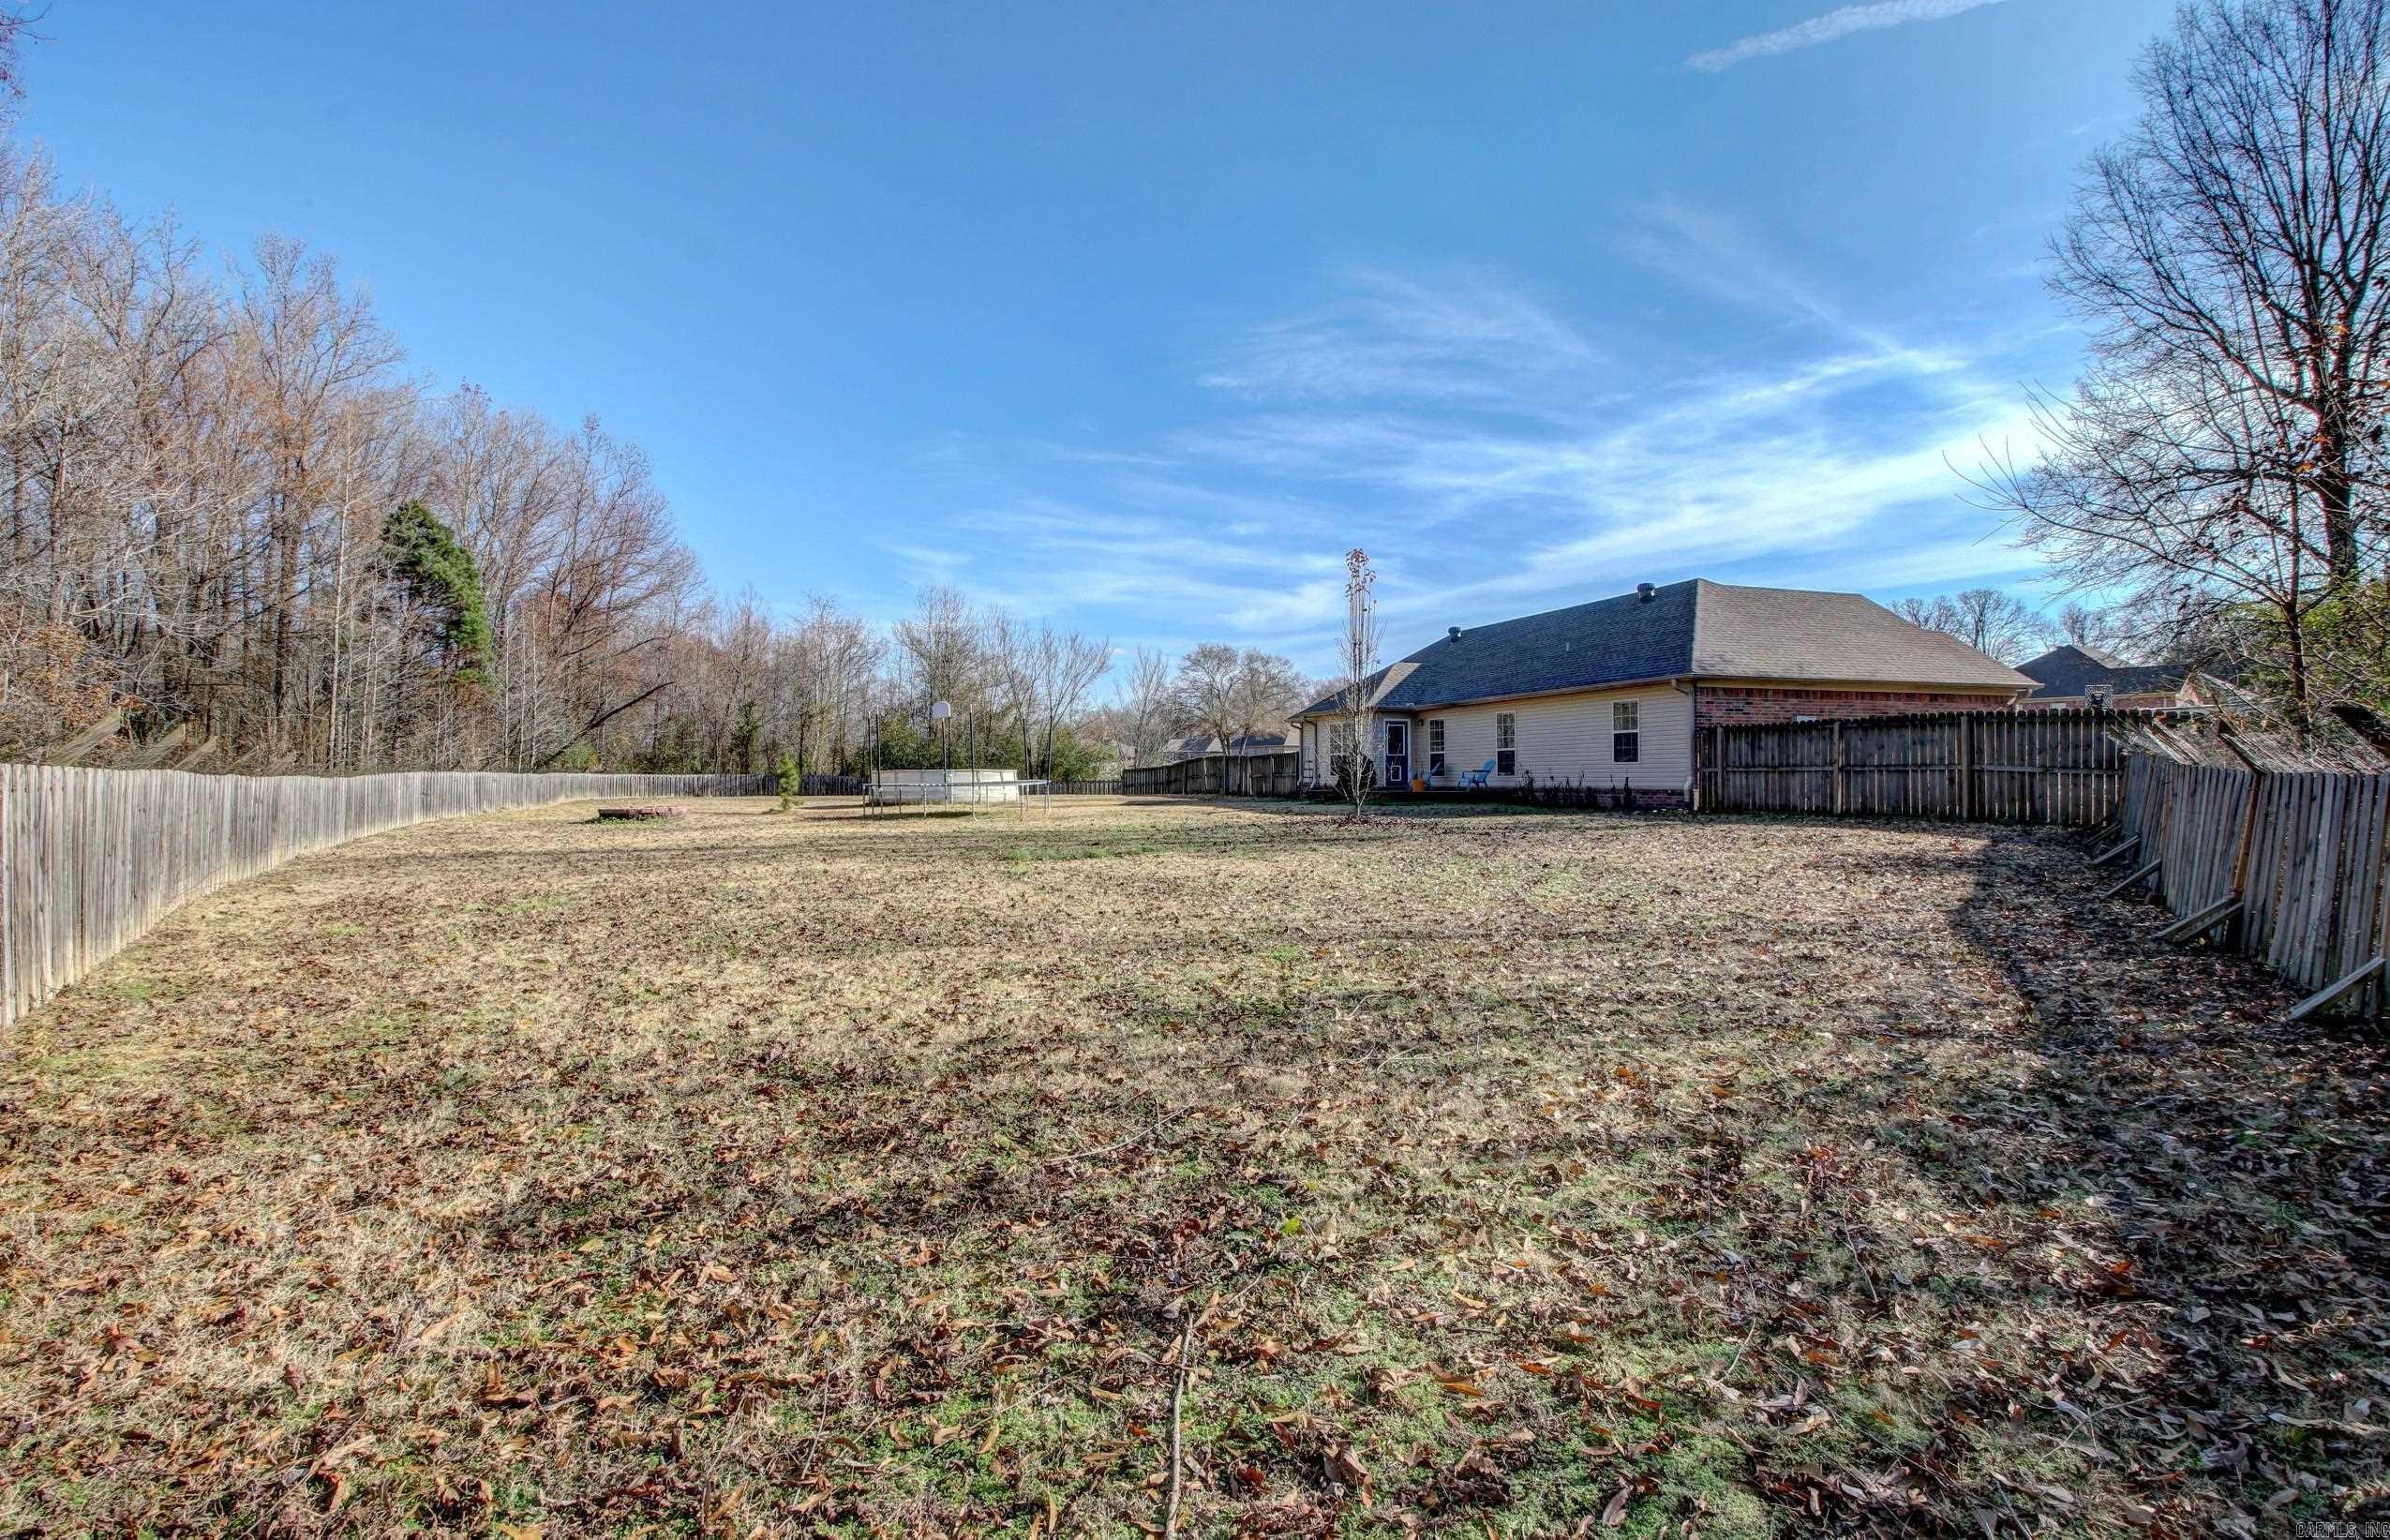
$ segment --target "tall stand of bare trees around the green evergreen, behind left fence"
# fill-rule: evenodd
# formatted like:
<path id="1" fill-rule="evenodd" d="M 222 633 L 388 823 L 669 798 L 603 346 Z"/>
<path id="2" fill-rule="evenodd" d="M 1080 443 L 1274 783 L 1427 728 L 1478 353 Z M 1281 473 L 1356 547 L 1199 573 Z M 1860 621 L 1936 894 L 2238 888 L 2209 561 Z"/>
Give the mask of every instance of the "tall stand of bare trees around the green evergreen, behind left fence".
<path id="1" fill-rule="evenodd" d="M 0 748 L 533 768 L 734 622 L 636 445 L 397 366 L 327 256 L 0 146 Z"/>

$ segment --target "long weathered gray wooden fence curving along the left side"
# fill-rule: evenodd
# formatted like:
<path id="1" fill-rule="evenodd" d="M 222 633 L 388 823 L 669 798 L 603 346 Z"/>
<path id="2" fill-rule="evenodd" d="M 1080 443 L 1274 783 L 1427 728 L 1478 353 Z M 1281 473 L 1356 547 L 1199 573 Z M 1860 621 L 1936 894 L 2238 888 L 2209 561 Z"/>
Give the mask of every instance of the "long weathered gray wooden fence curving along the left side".
<path id="1" fill-rule="evenodd" d="M 770 775 L 189 775 L 0 765 L 0 1028 L 170 909 L 425 818 L 581 796 L 767 796 Z"/>

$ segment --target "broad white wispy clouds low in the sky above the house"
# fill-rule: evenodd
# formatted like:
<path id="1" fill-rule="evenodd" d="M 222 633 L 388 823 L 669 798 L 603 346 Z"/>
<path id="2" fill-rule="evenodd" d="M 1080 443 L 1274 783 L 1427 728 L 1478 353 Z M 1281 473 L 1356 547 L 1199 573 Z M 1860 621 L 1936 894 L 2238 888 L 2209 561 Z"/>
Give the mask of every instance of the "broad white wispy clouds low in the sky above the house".
<path id="1" fill-rule="evenodd" d="M 1312 667 L 1350 545 L 1379 557 L 1403 648 L 1644 579 L 1900 593 L 2027 567 L 1950 466 L 2032 442 L 2008 352 L 2029 335 L 1953 342 L 1692 206 L 1642 210 L 1628 244 L 1764 325 L 1687 328 L 1666 301 L 1580 320 L 1499 273 L 1343 273 L 1212 347 L 1209 409 L 1178 430 L 958 445 L 961 512 L 899 555 L 1114 641 Z"/>

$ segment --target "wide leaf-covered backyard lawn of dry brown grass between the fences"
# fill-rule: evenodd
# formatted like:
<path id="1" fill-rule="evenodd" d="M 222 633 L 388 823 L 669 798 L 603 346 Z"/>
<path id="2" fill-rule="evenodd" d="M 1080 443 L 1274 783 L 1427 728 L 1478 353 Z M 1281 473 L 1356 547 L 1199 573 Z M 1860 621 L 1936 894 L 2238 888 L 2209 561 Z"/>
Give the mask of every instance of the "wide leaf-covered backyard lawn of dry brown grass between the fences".
<path id="1" fill-rule="evenodd" d="M 2385 1518 L 2390 1055 L 2096 890 L 1499 808 L 366 839 L 0 1052 L 0 1530 Z"/>

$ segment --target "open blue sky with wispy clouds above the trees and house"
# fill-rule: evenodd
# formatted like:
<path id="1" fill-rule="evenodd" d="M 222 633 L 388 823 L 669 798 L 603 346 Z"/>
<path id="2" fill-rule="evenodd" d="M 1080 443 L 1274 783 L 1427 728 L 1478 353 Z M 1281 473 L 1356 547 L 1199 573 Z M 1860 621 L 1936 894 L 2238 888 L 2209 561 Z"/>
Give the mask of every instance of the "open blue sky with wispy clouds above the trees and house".
<path id="1" fill-rule="evenodd" d="M 722 588 L 1326 667 L 1630 588 L 2029 560 L 2039 287 L 2168 0 L 57 0 L 24 127 L 655 459 Z"/>

